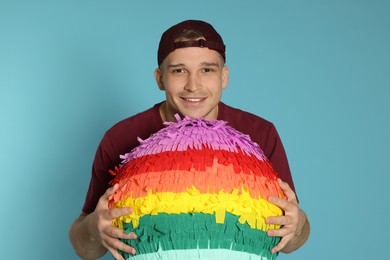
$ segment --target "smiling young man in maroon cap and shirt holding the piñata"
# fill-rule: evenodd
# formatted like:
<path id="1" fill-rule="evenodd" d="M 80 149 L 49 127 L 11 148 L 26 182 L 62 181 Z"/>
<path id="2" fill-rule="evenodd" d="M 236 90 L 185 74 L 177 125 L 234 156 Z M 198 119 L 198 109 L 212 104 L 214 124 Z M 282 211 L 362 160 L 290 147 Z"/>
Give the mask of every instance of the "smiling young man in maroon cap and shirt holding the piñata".
<path id="1" fill-rule="evenodd" d="M 289 253 L 305 243 L 310 233 L 306 214 L 299 208 L 291 173 L 279 135 L 272 123 L 253 114 L 232 108 L 220 101 L 229 77 L 225 66 L 225 45 L 221 36 L 205 22 L 188 20 L 169 28 L 161 37 L 158 68 L 154 75 L 157 85 L 166 93 L 166 100 L 152 108 L 127 118 L 104 135 L 96 152 L 92 178 L 81 215 L 70 228 L 70 240 L 83 259 L 95 259 L 107 250 L 123 259 L 118 250 L 135 254 L 134 248 L 119 239 L 134 239 L 112 226 L 112 219 L 131 213 L 131 208 L 108 208 L 108 197 L 117 186 L 110 187 L 109 170 L 120 163 L 119 155 L 138 145 L 137 137 L 148 138 L 164 127 L 163 121 L 175 121 L 175 114 L 191 118 L 219 119 L 248 134 L 257 142 L 279 173 L 279 184 L 287 199 L 275 197 L 269 201 L 285 212 L 270 217 L 268 224 L 282 225 L 268 231 L 280 236 L 272 253 Z"/>

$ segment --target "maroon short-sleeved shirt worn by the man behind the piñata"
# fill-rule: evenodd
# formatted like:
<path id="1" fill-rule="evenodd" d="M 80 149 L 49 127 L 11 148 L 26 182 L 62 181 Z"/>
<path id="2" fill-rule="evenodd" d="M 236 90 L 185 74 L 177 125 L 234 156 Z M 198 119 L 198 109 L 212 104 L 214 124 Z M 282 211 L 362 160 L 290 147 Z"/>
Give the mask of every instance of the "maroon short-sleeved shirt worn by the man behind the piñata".
<path id="1" fill-rule="evenodd" d="M 114 176 L 109 170 L 120 164 L 122 160 L 119 155 L 138 146 L 138 137 L 144 140 L 164 127 L 159 112 L 160 104 L 120 121 L 105 133 L 96 151 L 83 212 L 93 212 L 99 198 L 110 187 L 108 183 Z M 280 178 L 295 191 L 286 153 L 272 123 L 222 102 L 218 105 L 218 120 L 227 121 L 231 127 L 248 134 L 252 141 L 258 143 Z"/>

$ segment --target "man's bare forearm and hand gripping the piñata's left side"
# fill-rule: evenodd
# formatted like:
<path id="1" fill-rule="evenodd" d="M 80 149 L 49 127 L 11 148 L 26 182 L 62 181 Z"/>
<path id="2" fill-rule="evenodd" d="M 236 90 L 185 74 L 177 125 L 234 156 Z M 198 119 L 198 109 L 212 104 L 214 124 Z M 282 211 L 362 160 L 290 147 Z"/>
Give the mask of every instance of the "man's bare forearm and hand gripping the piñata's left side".
<path id="1" fill-rule="evenodd" d="M 74 250 L 82 259 L 96 259 L 103 256 L 107 250 L 115 259 L 124 259 L 118 250 L 135 254 L 134 248 L 119 239 L 135 239 L 134 233 L 126 234 L 112 225 L 114 218 L 128 215 L 131 208 L 108 208 L 108 198 L 114 194 L 118 185 L 108 189 L 100 198 L 96 209 L 91 214 L 82 213 L 72 224 L 69 238 Z"/>

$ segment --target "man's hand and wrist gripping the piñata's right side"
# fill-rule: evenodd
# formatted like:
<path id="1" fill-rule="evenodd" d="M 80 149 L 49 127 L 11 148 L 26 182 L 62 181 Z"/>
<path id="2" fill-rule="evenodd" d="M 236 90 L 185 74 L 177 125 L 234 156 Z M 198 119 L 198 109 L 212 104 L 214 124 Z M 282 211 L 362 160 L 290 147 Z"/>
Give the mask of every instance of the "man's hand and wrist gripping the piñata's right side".
<path id="1" fill-rule="evenodd" d="M 309 237 L 310 225 L 305 212 L 299 208 L 297 198 L 290 186 L 278 179 L 278 183 L 287 199 L 269 197 L 268 201 L 284 210 L 283 216 L 268 217 L 267 224 L 278 224 L 280 229 L 268 230 L 268 236 L 282 237 L 279 244 L 272 248 L 271 253 L 290 253 L 302 246 Z"/>

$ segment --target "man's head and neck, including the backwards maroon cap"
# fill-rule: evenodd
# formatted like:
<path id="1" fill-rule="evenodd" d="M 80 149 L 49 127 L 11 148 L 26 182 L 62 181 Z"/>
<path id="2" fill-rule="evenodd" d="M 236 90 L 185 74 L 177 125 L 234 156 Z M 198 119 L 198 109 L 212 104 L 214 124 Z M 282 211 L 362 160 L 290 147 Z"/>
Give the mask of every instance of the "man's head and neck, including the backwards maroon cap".
<path id="1" fill-rule="evenodd" d="M 176 113 L 217 119 L 228 67 L 225 45 L 210 24 L 189 20 L 168 29 L 161 37 L 158 63 L 154 76 L 166 95 L 160 106 L 163 120 L 174 121 Z"/>

